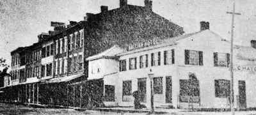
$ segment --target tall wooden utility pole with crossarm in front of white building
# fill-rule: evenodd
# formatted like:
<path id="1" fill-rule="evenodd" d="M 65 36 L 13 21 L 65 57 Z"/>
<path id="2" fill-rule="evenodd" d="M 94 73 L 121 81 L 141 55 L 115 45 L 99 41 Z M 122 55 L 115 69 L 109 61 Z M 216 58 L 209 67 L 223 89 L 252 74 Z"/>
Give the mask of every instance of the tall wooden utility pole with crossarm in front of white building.
<path id="1" fill-rule="evenodd" d="M 230 82 L 230 109 L 231 109 L 231 114 L 235 114 L 235 109 L 234 109 L 234 70 L 233 70 L 233 36 L 234 36 L 234 17 L 235 15 L 241 15 L 241 13 L 235 13 L 235 7 L 236 4 L 233 3 L 233 11 L 228 12 L 232 14 L 232 22 L 231 22 L 231 46 L 230 46 L 230 77 L 231 77 L 231 82 Z"/>

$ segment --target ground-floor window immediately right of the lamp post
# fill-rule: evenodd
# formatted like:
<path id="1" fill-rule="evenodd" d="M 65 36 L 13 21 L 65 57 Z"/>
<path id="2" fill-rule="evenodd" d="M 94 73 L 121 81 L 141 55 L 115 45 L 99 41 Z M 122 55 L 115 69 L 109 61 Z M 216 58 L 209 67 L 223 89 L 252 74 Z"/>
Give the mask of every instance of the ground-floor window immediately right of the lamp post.
<path id="1" fill-rule="evenodd" d="M 154 94 L 163 94 L 163 77 L 154 77 Z"/>

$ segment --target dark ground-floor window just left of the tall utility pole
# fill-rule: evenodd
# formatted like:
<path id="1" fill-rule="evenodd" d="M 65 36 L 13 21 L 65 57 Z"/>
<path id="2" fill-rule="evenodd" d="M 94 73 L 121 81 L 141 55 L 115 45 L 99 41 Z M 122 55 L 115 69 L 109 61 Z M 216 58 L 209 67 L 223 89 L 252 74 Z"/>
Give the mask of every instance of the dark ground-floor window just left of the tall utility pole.
<path id="1" fill-rule="evenodd" d="M 227 98 L 230 96 L 230 81 L 228 80 L 215 80 L 215 96 L 219 98 Z"/>

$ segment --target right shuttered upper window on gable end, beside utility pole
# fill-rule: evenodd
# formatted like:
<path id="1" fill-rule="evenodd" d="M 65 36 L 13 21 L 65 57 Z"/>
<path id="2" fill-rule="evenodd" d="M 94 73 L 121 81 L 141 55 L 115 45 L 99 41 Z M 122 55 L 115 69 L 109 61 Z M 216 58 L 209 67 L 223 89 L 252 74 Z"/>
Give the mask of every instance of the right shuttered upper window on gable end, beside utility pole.
<path id="1" fill-rule="evenodd" d="M 213 53 L 214 66 L 229 66 L 230 63 L 230 54 L 228 53 Z"/>

